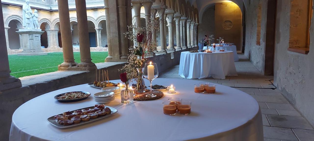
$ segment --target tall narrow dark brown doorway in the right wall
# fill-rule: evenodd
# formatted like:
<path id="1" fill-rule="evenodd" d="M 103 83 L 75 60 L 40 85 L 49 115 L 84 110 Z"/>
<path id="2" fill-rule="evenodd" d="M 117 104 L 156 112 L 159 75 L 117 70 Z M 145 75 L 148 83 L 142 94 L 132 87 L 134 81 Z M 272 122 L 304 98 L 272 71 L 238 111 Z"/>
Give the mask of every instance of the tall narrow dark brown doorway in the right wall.
<path id="1" fill-rule="evenodd" d="M 274 74 L 276 12 L 277 12 L 277 0 L 268 0 L 264 75 Z"/>

